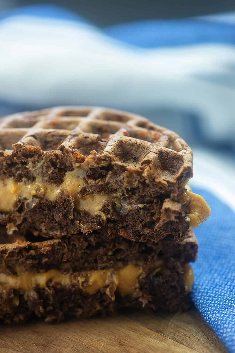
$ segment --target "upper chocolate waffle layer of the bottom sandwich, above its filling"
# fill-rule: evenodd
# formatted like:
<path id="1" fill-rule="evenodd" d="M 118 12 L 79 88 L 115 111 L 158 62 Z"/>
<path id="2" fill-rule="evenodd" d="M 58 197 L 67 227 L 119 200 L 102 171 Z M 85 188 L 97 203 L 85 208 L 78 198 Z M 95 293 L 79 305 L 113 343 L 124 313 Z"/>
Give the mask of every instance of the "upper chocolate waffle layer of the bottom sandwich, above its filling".
<path id="1" fill-rule="evenodd" d="M 145 244 L 122 237 L 100 239 L 96 233 L 75 234 L 64 239 L 45 239 L 21 232 L 8 235 L 6 228 L 0 226 L 0 287 L 1 273 L 11 276 L 52 269 L 71 273 L 123 268 L 129 263 L 142 266 L 148 262 L 153 267 L 170 258 L 188 263 L 196 260 L 197 248 L 197 240 L 191 230 L 180 243 L 168 237 L 158 243 Z"/>

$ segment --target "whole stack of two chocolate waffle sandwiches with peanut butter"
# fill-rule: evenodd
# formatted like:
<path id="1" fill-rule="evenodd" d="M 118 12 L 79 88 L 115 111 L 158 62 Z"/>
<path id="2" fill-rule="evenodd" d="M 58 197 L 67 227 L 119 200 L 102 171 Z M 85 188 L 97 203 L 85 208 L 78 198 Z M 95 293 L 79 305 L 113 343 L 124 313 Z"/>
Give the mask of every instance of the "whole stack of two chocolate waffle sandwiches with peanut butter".
<path id="1" fill-rule="evenodd" d="M 192 151 L 141 116 L 58 107 L 0 122 L 0 320 L 185 310 Z"/>

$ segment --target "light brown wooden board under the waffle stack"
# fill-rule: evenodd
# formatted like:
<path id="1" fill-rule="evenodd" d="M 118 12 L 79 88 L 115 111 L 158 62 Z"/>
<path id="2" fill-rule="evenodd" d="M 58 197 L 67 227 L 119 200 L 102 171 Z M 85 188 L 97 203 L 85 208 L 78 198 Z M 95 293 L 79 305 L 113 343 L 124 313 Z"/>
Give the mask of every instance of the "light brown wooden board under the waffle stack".
<path id="1" fill-rule="evenodd" d="M 91 318 L 59 325 L 33 322 L 0 326 L 1 353 L 225 353 L 222 343 L 191 310 L 146 314 L 126 310 L 117 317 Z"/>

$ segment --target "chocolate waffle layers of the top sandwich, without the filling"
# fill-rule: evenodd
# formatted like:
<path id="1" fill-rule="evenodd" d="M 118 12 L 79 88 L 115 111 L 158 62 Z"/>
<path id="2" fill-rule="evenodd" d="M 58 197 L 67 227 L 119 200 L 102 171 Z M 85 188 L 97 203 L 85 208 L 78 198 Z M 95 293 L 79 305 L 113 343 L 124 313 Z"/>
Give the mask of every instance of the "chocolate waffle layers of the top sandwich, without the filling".
<path id="1" fill-rule="evenodd" d="M 66 172 L 83 166 L 80 199 L 115 195 L 120 202 L 106 200 L 94 215 L 77 209 L 65 191 L 53 201 L 19 197 L 11 212 L 0 214 L 9 229 L 57 238 L 100 231 L 137 241 L 168 234 L 182 240 L 188 233 L 190 200 L 181 197 L 192 176 L 192 151 L 176 133 L 141 116 L 92 107 L 15 114 L 1 120 L 0 148 L 1 179 L 59 186 Z"/>

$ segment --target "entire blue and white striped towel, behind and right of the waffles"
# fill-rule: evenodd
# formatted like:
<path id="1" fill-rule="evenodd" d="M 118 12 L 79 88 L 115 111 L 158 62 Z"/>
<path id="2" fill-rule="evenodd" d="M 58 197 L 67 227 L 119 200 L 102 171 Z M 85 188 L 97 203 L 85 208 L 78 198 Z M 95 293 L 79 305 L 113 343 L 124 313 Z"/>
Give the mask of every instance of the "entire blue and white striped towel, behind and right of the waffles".
<path id="1" fill-rule="evenodd" d="M 80 103 L 180 112 L 172 128 L 182 113 L 201 138 L 234 147 L 235 14 L 103 30 L 53 6 L 0 14 L 0 102 L 2 113 Z M 195 153 L 191 185 L 212 214 L 196 229 L 193 300 L 235 352 L 234 156 L 225 162 Z"/>

